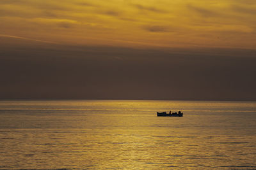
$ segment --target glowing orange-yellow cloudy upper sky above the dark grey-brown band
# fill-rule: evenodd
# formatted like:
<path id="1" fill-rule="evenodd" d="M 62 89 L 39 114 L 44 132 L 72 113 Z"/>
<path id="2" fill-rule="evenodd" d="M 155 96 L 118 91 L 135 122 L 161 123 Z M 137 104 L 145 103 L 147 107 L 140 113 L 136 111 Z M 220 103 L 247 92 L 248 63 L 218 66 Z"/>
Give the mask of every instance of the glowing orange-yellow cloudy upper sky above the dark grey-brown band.
<path id="1" fill-rule="evenodd" d="M 0 36 L 67 45 L 256 46 L 256 1 L 1 0 Z"/>

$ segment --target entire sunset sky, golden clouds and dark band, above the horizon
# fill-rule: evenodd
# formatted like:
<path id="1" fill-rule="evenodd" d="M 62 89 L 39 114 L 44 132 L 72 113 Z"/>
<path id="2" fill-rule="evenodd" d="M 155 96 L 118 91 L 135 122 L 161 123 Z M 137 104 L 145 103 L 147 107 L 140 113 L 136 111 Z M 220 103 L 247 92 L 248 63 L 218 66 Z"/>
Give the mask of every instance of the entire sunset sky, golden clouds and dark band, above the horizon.
<path id="1" fill-rule="evenodd" d="M 254 0 L 1 0 L 0 99 L 256 100 Z"/>

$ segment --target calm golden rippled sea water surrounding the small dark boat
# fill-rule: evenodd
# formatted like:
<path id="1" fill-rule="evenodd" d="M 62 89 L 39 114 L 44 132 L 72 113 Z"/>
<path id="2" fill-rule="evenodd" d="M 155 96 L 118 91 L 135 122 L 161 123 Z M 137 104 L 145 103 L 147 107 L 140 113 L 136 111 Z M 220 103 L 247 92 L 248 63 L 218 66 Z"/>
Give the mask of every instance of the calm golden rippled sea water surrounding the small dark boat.
<path id="1" fill-rule="evenodd" d="M 0 101 L 0 169 L 184 168 L 256 169 L 256 102 Z"/>

